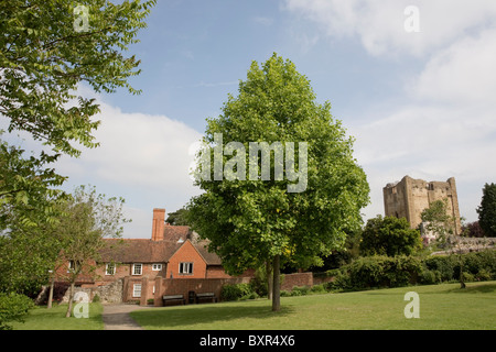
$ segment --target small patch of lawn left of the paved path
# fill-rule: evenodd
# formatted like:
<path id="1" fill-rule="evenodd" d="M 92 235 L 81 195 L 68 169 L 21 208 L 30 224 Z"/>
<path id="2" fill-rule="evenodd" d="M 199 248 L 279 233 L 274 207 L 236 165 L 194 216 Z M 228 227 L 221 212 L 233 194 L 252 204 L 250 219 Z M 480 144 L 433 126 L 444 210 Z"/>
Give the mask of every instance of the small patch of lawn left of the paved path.
<path id="1" fill-rule="evenodd" d="M 104 330 L 100 304 L 89 304 L 89 318 L 65 318 L 67 305 L 36 307 L 25 317 L 25 322 L 13 322 L 13 330 Z"/>

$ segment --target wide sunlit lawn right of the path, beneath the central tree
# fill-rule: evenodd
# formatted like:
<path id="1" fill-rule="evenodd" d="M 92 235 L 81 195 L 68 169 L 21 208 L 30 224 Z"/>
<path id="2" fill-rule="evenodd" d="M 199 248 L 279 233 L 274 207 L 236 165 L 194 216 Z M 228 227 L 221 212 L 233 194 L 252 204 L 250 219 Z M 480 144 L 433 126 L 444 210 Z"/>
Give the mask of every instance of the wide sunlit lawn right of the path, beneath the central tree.
<path id="1" fill-rule="evenodd" d="M 407 319 L 405 294 L 420 298 L 420 318 Z M 327 330 L 496 329 L 496 282 L 410 286 L 357 293 L 282 297 L 281 311 L 267 299 L 152 308 L 131 312 L 144 329 Z"/>

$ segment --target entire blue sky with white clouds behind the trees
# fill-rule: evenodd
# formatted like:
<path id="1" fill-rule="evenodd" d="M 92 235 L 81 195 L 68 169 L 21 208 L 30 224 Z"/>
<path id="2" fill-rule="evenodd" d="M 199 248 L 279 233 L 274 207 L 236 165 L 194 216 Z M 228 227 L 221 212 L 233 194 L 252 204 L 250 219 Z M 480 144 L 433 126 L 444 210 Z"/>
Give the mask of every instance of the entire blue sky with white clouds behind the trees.
<path id="1" fill-rule="evenodd" d="M 420 32 L 407 32 L 408 6 Z M 356 138 L 368 177 L 365 219 L 384 215 L 382 187 L 405 175 L 454 176 L 461 213 L 477 219 L 496 166 L 496 2 L 494 0 L 158 0 L 130 48 L 142 73 L 126 91 L 95 95 L 101 142 L 58 165 L 66 185 L 122 196 L 149 238 L 152 209 L 177 210 L 200 193 L 187 167 L 205 119 L 236 94 L 252 61 L 291 59 L 317 100 Z"/>

